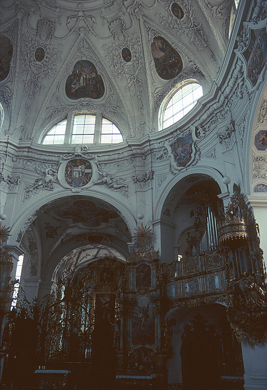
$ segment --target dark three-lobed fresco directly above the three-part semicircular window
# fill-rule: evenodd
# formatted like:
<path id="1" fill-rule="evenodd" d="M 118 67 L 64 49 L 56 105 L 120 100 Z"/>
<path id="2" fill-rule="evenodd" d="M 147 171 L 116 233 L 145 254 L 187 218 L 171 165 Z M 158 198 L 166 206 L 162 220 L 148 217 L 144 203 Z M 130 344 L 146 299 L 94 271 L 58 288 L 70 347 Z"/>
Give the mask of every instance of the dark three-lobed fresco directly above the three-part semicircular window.
<path id="1" fill-rule="evenodd" d="M 99 99 L 104 95 L 105 86 L 94 64 L 81 59 L 75 63 L 71 75 L 67 78 L 65 90 L 70 99 Z"/>

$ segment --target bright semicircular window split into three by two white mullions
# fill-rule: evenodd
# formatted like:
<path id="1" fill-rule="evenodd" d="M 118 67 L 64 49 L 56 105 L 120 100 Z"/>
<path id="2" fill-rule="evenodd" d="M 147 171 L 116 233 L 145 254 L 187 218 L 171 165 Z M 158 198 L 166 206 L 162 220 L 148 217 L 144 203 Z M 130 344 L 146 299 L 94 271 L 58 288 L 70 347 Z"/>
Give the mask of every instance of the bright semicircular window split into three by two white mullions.
<path id="1" fill-rule="evenodd" d="M 77 114 L 62 120 L 53 126 L 42 140 L 43 145 L 119 142 L 123 142 L 122 133 L 101 114 Z"/>

